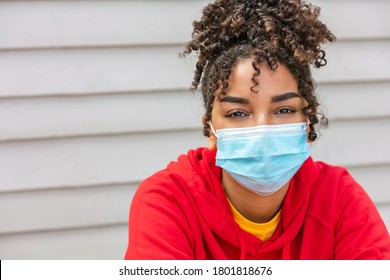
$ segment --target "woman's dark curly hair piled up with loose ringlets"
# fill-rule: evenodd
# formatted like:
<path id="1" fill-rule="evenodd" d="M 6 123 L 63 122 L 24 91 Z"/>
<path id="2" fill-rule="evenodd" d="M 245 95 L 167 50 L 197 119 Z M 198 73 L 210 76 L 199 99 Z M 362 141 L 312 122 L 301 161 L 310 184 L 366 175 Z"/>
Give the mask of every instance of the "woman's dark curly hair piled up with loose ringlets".
<path id="1" fill-rule="evenodd" d="M 217 90 L 228 87 L 232 67 L 253 58 L 253 87 L 258 84 L 259 63 L 267 61 L 272 70 L 285 65 L 298 83 L 299 93 L 307 101 L 303 114 L 309 118 L 310 130 L 328 120 L 317 115 L 319 103 L 310 65 L 326 65 L 321 44 L 336 37 L 318 16 L 320 8 L 301 0 L 216 0 L 203 9 L 199 21 L 193 22 L 192 40 L 183 55 L 197 54 L 191 89 L 201 83 L 206 122 L 203 134 L 210 136 L 209 121 Z"/>

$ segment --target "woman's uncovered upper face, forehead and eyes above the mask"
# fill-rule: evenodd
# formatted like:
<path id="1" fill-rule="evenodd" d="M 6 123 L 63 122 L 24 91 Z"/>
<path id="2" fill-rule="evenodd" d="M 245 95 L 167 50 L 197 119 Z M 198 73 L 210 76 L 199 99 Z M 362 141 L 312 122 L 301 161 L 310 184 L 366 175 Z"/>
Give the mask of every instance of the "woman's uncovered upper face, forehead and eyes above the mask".
<path id="1" fill-rule="evenodd" d="M 251 91 L 252 60 L 243 60 L 233 68 L 229 87 L 213 104 L 211 122 L 215 130 L 307 121 L 302 114 L 307 103 L 298 93 L 298 84 L 291 72 L 280 63 L 276 71 L 266 62 L 258 67 L 261 74 L 254 88 L 257 93 Z M 209 148 L 215 149 L 215 136 L 210 135 Z"/>

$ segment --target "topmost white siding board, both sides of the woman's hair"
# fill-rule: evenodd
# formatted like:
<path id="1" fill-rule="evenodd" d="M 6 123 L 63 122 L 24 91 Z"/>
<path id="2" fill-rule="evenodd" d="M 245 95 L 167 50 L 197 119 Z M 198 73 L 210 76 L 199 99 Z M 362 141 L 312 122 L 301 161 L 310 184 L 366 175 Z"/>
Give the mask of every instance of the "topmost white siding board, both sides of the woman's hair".
<path id="1" fill-rule="evenodd" d="M 208 2 L 1 1 L 0 49 L 184 43 Z M 311 2 L 341 39 L 390 38 L 388 1 Z"/>

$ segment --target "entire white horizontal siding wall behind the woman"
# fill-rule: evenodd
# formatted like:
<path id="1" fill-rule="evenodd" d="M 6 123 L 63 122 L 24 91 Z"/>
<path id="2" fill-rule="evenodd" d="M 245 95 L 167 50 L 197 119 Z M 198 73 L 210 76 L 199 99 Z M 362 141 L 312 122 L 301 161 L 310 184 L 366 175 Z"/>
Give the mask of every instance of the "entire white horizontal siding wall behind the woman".
<path id="1" fill-rule="evenodd" d="M 178 58 L 206 2 L 0 0 L 0 259 L 123 258 L 140 180 L 206 143 Z M 339 38 L 313 154 L 390 227 L 390 2 L 313 3 Z"/>

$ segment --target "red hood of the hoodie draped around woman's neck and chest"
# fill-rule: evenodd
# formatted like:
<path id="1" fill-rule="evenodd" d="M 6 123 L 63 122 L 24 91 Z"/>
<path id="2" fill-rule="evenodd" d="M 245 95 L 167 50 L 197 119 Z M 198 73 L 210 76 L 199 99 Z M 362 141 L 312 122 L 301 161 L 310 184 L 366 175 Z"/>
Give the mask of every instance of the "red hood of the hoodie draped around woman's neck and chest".
<path id="1" fill-rule="evenodd" d="M 292 242 L 303 227 L 310 193 L 320 177 L 319 167 L 308 158 L 294 175 L 282 205 L 281 221 L 273 236 L 262 242 L 243 231 L 234 221 L 221 185 L 222 170 L 215 165 L 215 156 L 216 151 L 199 148 L 180 156 L 177 162 L 168 166 L 170 172 L 186 182 L 201 216 L 205 242 L 212 246 L 213 257 L 231 258 L 221 248 L 223 243 L 235 248 L 240 259 L 290 259 Z"/>

